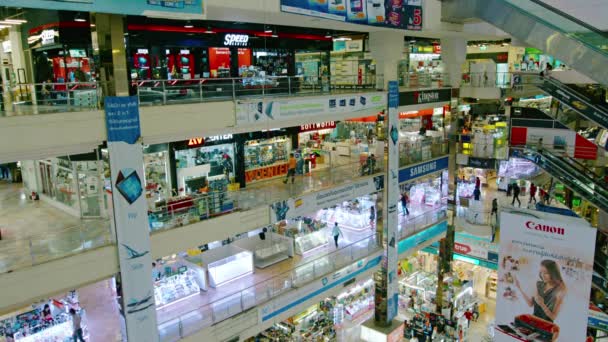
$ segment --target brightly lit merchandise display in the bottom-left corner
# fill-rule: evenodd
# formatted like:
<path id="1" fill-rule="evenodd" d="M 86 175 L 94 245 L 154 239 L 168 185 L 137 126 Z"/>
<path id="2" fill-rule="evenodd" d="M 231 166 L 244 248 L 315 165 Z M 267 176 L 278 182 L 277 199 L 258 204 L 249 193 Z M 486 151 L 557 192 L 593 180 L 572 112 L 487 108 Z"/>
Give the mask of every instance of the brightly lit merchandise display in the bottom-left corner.
<path id="1" fill-rule="evenodd" d="M 45 307 L 48 309 L 45 311 Z M 72 339 L 72 317 L 74 309 L 81 317 L 83 336 L 88 339 L 86 313 L 80 307 L 78 294 L 70 292 L 63 299 L 51 299 L 32 307 L 17 311 L 0 321 L 0 339 L 19 342 L 54 342 Z"/>

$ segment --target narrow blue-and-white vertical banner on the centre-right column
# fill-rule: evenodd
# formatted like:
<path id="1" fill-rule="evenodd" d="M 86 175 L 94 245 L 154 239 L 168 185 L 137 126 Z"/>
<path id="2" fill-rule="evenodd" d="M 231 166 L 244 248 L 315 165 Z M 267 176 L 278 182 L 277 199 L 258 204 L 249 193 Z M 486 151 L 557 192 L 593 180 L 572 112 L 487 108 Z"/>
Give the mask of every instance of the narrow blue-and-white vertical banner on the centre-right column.
<path id="1" fill-rule="evenodd" d="M 399 263 L 397 226 L 399 224 L 399 83 L 388 82 L 388 179 L 386 184 L 387 220 L 386 220 L 386 275 L 387 279 L 387 323 L 397 317 L 399 307 L 399 281 L 397 264 Z"/>

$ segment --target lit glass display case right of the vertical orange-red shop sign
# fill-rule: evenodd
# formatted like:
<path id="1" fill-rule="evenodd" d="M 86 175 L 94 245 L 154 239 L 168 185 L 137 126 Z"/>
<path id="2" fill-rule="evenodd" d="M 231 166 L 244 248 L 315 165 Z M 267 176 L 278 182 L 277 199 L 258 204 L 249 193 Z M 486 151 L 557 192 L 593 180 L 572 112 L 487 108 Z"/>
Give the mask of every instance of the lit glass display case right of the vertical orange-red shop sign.
<path id="1" fill-rule="evenodd" d="M 291 140 L 287 137 L 248 141 L 245 144 L 245 171 L 287 163 L 289 151 Z"/>

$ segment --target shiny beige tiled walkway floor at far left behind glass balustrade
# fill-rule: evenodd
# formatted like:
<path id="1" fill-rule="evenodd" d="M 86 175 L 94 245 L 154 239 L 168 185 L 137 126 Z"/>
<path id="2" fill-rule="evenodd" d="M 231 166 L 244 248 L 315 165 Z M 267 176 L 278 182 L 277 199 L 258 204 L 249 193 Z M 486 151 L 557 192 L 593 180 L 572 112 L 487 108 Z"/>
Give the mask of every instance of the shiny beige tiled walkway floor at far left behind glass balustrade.
<path id="1" fill-rule="evenodd" d="M 0 182 L 0 230 L 0 273 L 110 242 L 107 220 L 80 220 L 6 182 Z"/>

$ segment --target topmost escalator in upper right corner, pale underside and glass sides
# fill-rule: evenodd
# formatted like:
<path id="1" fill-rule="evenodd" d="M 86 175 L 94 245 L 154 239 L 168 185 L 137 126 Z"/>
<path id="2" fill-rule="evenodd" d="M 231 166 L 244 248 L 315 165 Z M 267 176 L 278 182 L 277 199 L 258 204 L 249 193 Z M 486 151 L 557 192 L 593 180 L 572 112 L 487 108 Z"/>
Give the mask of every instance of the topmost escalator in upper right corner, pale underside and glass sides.
<path id="1" fill-rule="evenodd" d="M 539 0 L 442 0 L 442 20 L 484 20 L 608 85 L 608 35 Z"/>

